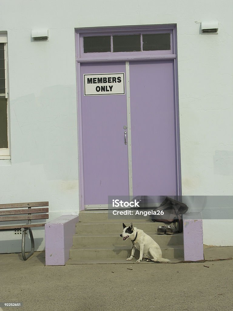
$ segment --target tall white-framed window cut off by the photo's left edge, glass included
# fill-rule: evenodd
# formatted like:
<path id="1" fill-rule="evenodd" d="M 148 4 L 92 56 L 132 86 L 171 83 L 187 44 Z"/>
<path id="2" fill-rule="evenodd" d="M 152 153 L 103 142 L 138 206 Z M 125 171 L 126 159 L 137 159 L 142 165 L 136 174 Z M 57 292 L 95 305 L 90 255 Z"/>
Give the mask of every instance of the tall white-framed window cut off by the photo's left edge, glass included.
<path id="1" fill-rule="evenodd" d="M 0 34 L 0 159 L 9 158 L 7 35 Z"/>

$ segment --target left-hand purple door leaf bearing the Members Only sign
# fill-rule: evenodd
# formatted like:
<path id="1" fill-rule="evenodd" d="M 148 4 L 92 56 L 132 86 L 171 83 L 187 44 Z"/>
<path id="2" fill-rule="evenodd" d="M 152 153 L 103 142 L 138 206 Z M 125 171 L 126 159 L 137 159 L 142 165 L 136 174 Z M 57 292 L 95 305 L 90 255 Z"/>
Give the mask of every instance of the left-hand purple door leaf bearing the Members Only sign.
<path id="1" fill-rule="evenodd" d="M 125 74 L 125 71 L 125 63 L 81 65 L 82 149 L 86 207 L 108 204 L 109 195 L 129 195 L 128 148 L 124 143 L 125 129 L 123 128 L 127 126 L 126 95 L 121 94 L 123 86 L 125 87 L 125 81 L 122 81 L 122 73 Z M 116 73 L 121 75 L 113 75 Z M 114 80 L 112 76 L 118 77 L 118 80 Z M 119 77 L 121 83 L 118 83 Z M 98 78 L 102 78 L 100 83 Z M 104 79 L 108 79 L 107 83 Z M 114 92 L 114 88 L 119 85 L 121 89 L 118 88 Z M 105 89 L 101 90 L 101 87 Z M 117 95 L 106 95 L 110 90 Z"/>

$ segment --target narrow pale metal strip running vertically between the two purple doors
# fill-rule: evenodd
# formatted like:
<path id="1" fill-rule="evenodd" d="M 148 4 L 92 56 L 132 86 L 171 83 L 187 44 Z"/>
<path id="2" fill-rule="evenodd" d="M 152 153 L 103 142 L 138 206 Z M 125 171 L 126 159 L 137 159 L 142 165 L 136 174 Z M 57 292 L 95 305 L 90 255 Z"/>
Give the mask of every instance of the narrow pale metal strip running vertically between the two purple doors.
<path id="1" fill-rule="evenodd" d="M 133 196 L 133 170 L 131 147 L 131 115 L 130 115 L 130 63 L 126 62 L 126 105 L 127 105 L 127 137 L 128 137 L 128 167 L 129 167 L 129 195 Z"/>

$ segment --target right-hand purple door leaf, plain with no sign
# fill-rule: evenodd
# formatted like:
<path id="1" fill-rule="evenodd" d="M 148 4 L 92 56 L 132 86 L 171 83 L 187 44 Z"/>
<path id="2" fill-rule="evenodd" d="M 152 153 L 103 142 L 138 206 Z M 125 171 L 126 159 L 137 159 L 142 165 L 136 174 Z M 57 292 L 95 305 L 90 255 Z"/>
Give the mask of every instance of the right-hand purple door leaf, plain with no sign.
<path id="1" fill-rule="evenodd" d="M 133 195 L 177 195 L 174 61 L 130 62 Z"/>

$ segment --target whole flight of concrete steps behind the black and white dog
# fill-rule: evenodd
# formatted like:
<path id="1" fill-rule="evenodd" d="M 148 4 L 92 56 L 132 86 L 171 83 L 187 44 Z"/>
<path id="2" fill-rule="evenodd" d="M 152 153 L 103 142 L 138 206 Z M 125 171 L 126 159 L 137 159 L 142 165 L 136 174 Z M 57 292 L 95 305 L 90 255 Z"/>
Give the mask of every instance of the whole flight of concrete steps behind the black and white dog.
<path id="1" fill-rule="evenodd" d="M 126 261 L 130 256 L 132 244 L 130 240 L 123 241 L 120 237 L 123 231 L 122 222 L 130 225 L 131 221 L 134 227 L 144 230 L 160 245 L 163 258 L 176 262 L 184 260 L 183 233 L 157 234 L 157 227 L 163 223 L 150 219 L 112 220 L 108 219 L 107 211 L 81 211 L 79 219 L 67 264 L 136 262 L 139 252 L 135 252 L 136 259 Z"/>

